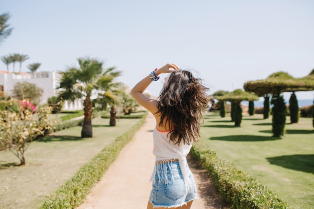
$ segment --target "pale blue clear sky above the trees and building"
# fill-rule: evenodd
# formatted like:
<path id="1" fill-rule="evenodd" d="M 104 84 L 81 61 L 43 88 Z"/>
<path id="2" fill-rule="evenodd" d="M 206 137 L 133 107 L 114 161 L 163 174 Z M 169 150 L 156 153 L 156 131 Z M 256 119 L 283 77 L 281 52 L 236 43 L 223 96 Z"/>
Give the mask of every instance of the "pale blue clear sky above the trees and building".
<path id="1" fill-rule="evenodd" d="M 22 66 L 63 71 L 77 58 L 105 61 L 132 87 L 168 62 L 198 72 L 214 93 L 285 71 L 303 77 L 314 68 L 314 1 L 0 1 L 12 35 L 0 56 L 30 57 Z M 0 62 L 0 70 L 6 70 Z M 12 66 L 10 66 L 12 71 Z M 19 66 L 16 66 L 16 71 Z M 148 90 L 158 95 L 163 82 Z M 285 94 L 285 98 L 288 98 Z M 299 92 L 313 99 L 314 92 Z"/>

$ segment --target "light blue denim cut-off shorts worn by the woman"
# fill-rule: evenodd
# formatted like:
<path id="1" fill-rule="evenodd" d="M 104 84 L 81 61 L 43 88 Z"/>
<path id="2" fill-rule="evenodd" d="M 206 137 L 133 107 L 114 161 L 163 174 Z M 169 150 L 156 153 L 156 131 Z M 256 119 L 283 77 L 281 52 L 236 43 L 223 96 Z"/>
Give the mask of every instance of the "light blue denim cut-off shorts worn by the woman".
<path id="1" fill-rule="evenodd" d="M 153 207 L 178 207 L 198 198 L 192 172 L 189 169 L 189 178 L 191 178 L 193 186 L 188 192 L 178 161 L 167 163 L 167 183 L 159 180 L 157 172 L 149 196 L 149 201 Z"/>

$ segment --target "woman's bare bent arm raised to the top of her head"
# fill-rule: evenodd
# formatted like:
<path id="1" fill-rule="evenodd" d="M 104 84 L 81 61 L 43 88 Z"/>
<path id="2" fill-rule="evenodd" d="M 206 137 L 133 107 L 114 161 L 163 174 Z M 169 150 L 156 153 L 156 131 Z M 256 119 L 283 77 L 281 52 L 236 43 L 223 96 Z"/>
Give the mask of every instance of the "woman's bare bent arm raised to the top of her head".
<path id="1" fill-rule="evenodd" d="M 172 69 L 172 70 L 170 70 Z M 162 73 L 171 73 L 173 70 L 178 70 L 178 66 L 175 64 L 168 63 L 162 68 L 155 70 L 150 75 L 144 77 L 140 80 L 131 90 L 132 97 L 144 108 L 150 111 L 152 114 L 158 111 L 157 103 L 158 101 L 155 99 L 150 99 L 146 95 L 143 94 L 145 89 L 149 86 L 149 84 L 154 81 L 154 78 L 158 78 L 158 76 Z M 154 73 L 154 74 L 153 74 Z"/>

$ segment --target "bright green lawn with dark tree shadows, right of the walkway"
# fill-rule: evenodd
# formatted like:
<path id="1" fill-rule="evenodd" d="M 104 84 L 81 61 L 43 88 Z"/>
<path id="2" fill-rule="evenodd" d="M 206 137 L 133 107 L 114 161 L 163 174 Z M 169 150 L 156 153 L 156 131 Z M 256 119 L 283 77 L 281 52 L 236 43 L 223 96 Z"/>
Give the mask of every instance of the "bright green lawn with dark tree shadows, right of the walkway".
<path id="1" fill-rule="evenodd" d="M 274 138 L 271 116 L 266 120 L 262 117 L 244 114 L 241 127 L 234 127 L 230 116 L 208 113 L 201 140 L 220 158 L 233 162 L 274 191 L 290 208 L 314 208 L 312 118 L 286 124 L 286 135 Z"/>

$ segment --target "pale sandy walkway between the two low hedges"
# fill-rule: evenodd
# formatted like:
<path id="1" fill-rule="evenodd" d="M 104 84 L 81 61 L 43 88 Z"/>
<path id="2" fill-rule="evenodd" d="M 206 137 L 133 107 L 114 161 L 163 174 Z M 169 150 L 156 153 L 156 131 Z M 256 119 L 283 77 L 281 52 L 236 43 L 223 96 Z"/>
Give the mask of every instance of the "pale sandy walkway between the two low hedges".
<path id="1" fill-rule="evenodd" d="M 141 209 L 146 208 L 153 169 L 152 130 L 155 120 L 148 114 L 143 126 L 120 152 L 117 159 L 95 185 L 85 202 L 77 209 Z M 188 158 L 194 174 L 199 198 L 191 209 L 230 208 L 220 199 L 217 190 L 200 165 Z M 138 163 L 140 162 L 140 163 Z"/>

